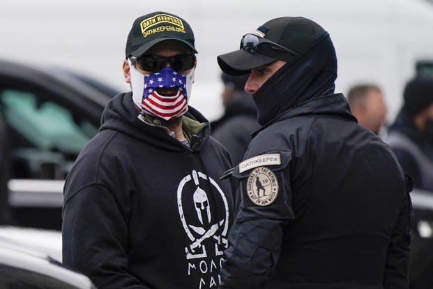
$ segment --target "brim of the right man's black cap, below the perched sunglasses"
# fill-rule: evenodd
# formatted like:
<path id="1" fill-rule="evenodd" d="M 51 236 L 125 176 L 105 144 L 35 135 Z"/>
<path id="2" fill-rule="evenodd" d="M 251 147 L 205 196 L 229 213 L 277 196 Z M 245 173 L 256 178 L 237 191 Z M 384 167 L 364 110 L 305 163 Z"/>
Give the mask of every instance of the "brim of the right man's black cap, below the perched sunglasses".
<path id="1" fill-rule="evenodd" d="M 245 75 L 251 73 L 252 69 L 271 64 L 275 60 L 277 59 L 265 54 L 241 49 L 217 57 L 221 70 L 228 75 Z"/>

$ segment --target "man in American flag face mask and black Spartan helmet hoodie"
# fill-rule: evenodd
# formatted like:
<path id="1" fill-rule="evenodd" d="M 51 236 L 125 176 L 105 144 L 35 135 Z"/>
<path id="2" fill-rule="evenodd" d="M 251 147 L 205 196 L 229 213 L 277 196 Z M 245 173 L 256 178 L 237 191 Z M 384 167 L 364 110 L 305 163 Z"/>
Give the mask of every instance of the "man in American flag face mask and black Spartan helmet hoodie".
<path id="1" fill-rule="evenodd" d="M 68 175 L 63 263 L 98 288 L 215 288 L 233 219 L 222 144 L 188 105 L 194 34 L 165 12 L 138 17 L 100 131 Z"/>

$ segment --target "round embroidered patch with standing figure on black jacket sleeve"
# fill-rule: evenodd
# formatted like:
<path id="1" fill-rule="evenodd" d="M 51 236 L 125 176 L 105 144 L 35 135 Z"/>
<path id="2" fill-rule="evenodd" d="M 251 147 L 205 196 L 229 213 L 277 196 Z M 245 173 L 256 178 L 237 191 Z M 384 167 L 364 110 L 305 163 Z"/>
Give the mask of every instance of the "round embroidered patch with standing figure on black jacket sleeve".
<path id="1" fill-rule="evenodd" d="M 271 205 L 278 195 L 278 180 L 273 171 L 266 167 L 252 170 L 247 181 L 247 193 L 255 205 Z"/>

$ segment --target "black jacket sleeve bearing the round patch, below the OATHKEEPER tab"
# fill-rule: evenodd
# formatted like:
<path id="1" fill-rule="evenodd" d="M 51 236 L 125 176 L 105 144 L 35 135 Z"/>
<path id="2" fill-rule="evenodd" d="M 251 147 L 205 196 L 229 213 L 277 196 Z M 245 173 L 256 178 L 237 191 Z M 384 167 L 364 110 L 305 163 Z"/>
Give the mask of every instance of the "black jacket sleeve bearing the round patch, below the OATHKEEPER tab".
<path id="1" fill-rule="evenodd" d="M 243 174 L 234 173 L 239 179 L 237 212 L 229 233 L 229 248 L 224 253 L 220 288 L 262 288 L 261 282 L 271 277 L 280 255 L 284 226 L 294 218 L 286 165 L 273 166 L 272 170 L 259 167 Z M 254 196 L 260 188 L 257 176 L 266 194 L 278 188 L 275 199 L 269 199 L 269 204 L 260 203 Z M 269 179 L 266 176 L 270 176 Z M 272 183 L 274 177 L 276 182 Z"/>

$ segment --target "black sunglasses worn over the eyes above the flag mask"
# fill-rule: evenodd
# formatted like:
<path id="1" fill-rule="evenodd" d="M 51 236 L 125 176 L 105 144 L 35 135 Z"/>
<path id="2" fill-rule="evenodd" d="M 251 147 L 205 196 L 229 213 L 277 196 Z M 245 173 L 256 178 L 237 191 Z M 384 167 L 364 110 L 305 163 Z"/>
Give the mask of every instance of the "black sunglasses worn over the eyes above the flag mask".
<path id="1" fill-rule="evenodd" d="M 142 55 L 131 57 L 132 64 L 137 65 L 142 71 L 157 73 L 165 68 L 167 64 L 172 66 L 176 72 L 188 71 L 195 65 L 194 54 L 178 54 L 172 57 L 160 57 L 155 55 Z"/>

